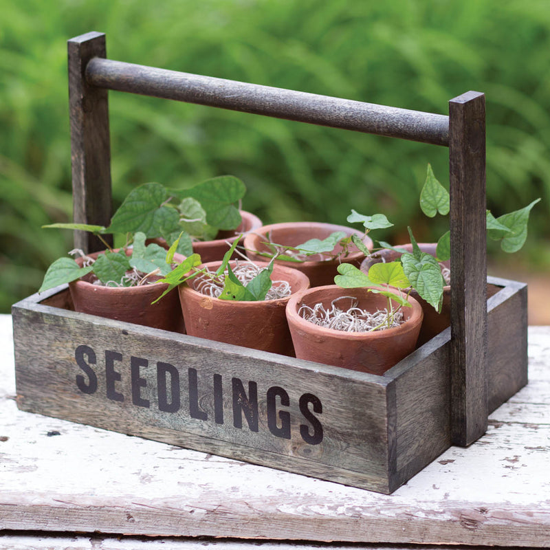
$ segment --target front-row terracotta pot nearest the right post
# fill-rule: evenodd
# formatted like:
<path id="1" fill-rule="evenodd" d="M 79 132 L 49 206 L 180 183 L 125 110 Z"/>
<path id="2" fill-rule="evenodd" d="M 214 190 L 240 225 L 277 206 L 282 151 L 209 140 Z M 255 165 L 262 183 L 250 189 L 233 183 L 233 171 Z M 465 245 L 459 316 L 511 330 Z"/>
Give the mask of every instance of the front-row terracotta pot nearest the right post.
<path id="1" fill-rule="evenodd" d="M 382 375 L 411 353 L 416 346 L 422 322 L 422 308 L 412 298 L 412 307 L 404 307 L 406 321 L 399 327 L 374 332 L 344 332 L 319 327 L 298 315 L 302 305 L 314 307 L 340 296 L 358 299 L 358 307 L 376 311 L 386 307 L 386 298 L 365 288 L 343 289 L 336 285 L 298 292 L 287 305 L 287 320 L 296 357 L 318 363 L 342 366 L 354 371 Z"/>

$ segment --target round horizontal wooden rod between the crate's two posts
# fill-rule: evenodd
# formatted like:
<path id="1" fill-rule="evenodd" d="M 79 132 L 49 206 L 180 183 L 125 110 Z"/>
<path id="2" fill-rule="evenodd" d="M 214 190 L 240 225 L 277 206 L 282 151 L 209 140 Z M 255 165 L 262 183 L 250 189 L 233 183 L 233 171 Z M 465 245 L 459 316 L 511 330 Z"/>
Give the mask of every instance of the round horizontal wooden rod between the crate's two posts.
<path id="1" fill-rule="evenodd" d="M 94 86 L 331 128 L 448 144 L 448 116 L 95 58 Z"/>

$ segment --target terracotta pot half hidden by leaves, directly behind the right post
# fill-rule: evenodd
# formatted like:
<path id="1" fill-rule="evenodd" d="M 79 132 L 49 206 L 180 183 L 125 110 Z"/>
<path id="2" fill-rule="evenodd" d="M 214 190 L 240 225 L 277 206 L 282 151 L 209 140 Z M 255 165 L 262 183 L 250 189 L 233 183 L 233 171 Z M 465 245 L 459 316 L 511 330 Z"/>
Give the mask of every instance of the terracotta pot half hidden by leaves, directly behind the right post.
<path id="1" fill-rule="evenodd" d="M 418 245 L 422 252 L 435 256 L 435 249 L 437 247 L 436 243 L 419 243 Z M 396 245 L 395 248 L 404 248 L 407 252 L 412 252 L 412 244 L 410 243 Z M 382 259 L 386 262 L 393 262 L 398 260 L 400 257 L 401 254 L 395 250 L 380 250 L 375 252 L 369 258 L 364 259 L 361 264 L 361 270 L 368 274 L 369 267 L 371 267 L 373 263 L 380 263 Z M 445 267 L 450 267 L 449 261 L 443 262 L 443 265 L 445 265 Z M 423 298 L 421 298 L 415 290 L 410 292 L 410 296 L 419 301 L 424 312 L 424 319 L 422 321 L 422 327 L 420 329 L 417 343 L 418 346 L 421 346 L 422 344 L 426 344 L 428 340 L 431 340 L 434 336 L 437 336 L 437 334 L 445 330 L 450 325 L 451 287 L 448 285 L 443 287 L 443 305 L 441 307 L 441 313 L 437 313 L 437 311 L 430 304 L 428 304 L 426 300 L 423 300 Z"/>

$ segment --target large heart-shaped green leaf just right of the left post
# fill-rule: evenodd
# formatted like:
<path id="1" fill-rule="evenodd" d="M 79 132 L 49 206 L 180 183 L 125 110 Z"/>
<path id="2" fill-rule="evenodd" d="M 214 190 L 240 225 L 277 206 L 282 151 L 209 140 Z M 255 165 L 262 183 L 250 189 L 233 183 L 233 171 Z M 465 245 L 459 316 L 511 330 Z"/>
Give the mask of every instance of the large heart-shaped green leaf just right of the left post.
<path id="1" fill-rule="evenodd" d="M 155 239 L 179 229 L 179 214 L 166 203 L 170 199 L 168 190 L 161 184 L 144 184 L 129 192 L 120 208 L 111 219 L 108 232 L 143 232 L 149 239 Z"/>

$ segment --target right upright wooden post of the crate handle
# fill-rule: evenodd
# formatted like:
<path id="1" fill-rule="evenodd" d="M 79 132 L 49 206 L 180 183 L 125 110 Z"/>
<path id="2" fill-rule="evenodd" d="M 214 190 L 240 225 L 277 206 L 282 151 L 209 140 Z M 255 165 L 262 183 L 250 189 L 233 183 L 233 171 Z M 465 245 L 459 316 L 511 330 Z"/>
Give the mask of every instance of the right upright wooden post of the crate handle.
<path id="1" fill-rule="evenodd" d="M 449 102 L 451 438 L 470 445 L 487 429 L 485 96 Z"/>

